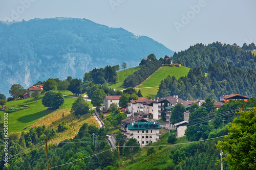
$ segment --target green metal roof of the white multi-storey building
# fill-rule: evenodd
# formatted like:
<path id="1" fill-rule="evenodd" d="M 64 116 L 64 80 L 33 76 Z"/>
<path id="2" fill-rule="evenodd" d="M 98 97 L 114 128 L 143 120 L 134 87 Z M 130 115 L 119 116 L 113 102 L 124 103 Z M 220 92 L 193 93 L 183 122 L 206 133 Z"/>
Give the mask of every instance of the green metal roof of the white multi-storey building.
<path id="1" fill-rule="evenodd" d="M 129 130 L 145 130 L 145 129 L 161 129 L 160 124 L 156 122 L 130 122 L 130 125 L 127 125 Z"/>

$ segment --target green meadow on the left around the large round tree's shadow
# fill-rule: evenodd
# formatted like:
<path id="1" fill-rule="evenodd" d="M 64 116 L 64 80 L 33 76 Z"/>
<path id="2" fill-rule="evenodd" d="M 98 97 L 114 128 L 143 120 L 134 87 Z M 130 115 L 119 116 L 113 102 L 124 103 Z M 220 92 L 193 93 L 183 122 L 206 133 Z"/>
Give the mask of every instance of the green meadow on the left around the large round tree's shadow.
<path id="1" fill-rule="evenodd" d="M 68 92 L 66 92 L 68 93 Z M 8 113 L 8 132 L 20 132 L 24 130 L 29 125 L 34 124 L 40 118 L 58 110 L 62 109 L 70 109 L 72 107 L 72 103 L 76 100 L 76 98 L 71 98 L 68 96 L 64 96 L 65 103 L 60 106 L 57 110 L 47 109 L 42 105 L 42 96 L 40 95 L 37 102 L 33 98 L 25 99 L 25 100 L 17 100 L 6 103 L 6 107 L 15 106 L 18 104 L 28 105 L 30 108 L 19 110 L 16 112 Z M 90 103 L 90 102 L 89 102 Z M 0 115 L 2 119 L 4 117 L 4 111 L 0 111 Z"/>

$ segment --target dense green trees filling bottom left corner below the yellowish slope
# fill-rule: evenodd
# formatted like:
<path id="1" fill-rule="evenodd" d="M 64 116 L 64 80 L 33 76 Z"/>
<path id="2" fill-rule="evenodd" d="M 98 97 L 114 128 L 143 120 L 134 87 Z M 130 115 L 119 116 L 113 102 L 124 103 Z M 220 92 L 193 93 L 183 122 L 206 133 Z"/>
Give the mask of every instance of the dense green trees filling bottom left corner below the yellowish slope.
<path id="1" fill-rule="evenodd" d="M 4 147 L 3 134 L 4 132 L 1 123 L 1 148 Z M 38 146 L 34 149 L 32 148 L 35 143 L 44 142 L 45 138 L 51 135 L 55 135 L 55 131 L 44 128 L 32 128 L 30 132 L 22 134 L 20 138 L 9 137 L 8 143 L 8 168 L 3 166 L 3 169 L 20 169 L 20 170 L 33 170 L 33 169 L 46 169 L 46 150 L 44 146 Z M 94 134 L 94 135 L 93 135 Z M 50 136 L 49 136 L 50 135 Z M 94 136 L 94 138 L 93 138 Z M 80 128 L 78 134 L 70 140 L 65 140 L 59 144 L 48 143 L 48 156 L 49 156 L 49 166 L 54 167 L 57 165 L 65 164 L 67 162 L 75 161 L 84 157 L 91 156 L 95 153 L 99 153 L 110 149 L 108 141 L 105 140 L 106 129 L 97 129 L 95 126 L 88 126 L 88 124 L 83 124 Z M 120 139 L 120 138 L 119 138 Z M 20 142 L 19 142 L 20 141 Z M 20 144 L 21 145 L 20 145 Z M 33 144 L 30 144 L 33 143 Z M 30 152 L 24 152 L 30 149 Z M 21 152 L 21 154 L 18 154 Z M 1 157 L 3 158 L 4 152 L 2 152 Z M 10 158 L 10 156 L 16 155 Z M 96 160 L 97 158 L 97 160 Z M 56 167 L 56 169 L 104 169 L 107 166 L 115 166 L 118 160 L 118 153 L 116 149 L 106 151 L 97 155 L 97 157 L 91 157 L 87 159 L 82 159 L 81 161 L 73 162 L 61 167 Z"/>

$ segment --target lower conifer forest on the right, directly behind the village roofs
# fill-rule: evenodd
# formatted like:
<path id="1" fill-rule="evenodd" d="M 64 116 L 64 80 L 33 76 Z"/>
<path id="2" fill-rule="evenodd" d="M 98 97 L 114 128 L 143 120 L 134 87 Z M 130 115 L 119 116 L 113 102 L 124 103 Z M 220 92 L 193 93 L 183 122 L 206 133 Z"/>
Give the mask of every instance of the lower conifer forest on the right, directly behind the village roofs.
<path id="1" fill-rule="evenodd" d="M 196 100 L 218 99 L 231 93 L 248 97 L 255 95 L 256 72 L 252 69 L 243 70 L 219 63 L 210 64 L 207 69 L 207 76 L 202 66 L 191 68 L 188 75 L 179 80 L 168 76 L 161 81 L 157 96 L 179 95 L 183 100 Z"/>

